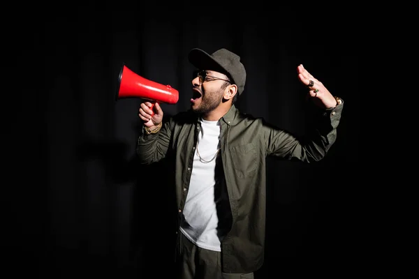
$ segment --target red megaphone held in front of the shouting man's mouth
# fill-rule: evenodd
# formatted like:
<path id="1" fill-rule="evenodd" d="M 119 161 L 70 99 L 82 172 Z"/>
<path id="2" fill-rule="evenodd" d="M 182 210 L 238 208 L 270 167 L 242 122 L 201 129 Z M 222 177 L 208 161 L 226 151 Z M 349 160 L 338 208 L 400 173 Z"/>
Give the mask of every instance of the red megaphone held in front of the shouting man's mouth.
<path id="1" fill-rule="evenodd" d="M 155 103 L 177 103 L 179 100 L 179 91 L 170 85 L 159 84 L 137 75 L 126 67 L 124 63 L 119 72 L 115 100 L 122 98 L 142 98 L 149 100 L 152 102 L 152 107 L 150 108 L 153 110 Z"/>

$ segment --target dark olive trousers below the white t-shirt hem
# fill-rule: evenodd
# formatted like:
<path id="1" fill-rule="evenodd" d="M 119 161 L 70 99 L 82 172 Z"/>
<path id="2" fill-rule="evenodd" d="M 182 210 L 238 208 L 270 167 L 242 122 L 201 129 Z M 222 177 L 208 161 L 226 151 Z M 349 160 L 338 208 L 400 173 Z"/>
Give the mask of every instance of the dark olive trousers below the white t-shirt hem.
<path id="1" fill-rule="evenodd" d="M 179 279 L 253 279 L 252 273 L 223 273 L 221 252 L 199 248 L 179 232 Z"/>

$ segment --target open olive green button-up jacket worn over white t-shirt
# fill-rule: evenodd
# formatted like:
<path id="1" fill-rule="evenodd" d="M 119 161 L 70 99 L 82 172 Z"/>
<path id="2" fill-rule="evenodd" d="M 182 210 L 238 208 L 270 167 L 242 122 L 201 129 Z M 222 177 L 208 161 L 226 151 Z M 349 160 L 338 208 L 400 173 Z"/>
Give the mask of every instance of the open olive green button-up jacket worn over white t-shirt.
<path id="1" fill-rule="evenodd" d="M 227 273 L 249 273 L 263 264 L 265 245 L 267 156 L 306 163 L 321 160 L 335 142 L 344 103 L 334 109 L 317 110 L 313 130 L 298 139 L 262 118 L 242 114 L 233 105 L 220 119 L 221 159 L 230 200 L 232 224 L 221 241 L 222 268 Z M 151 164 L 170 158 L 173 169 L 167 175 L 175 181 L 177 234 L 188 195 L 193 155 L 200 129 L 199 117 L 182 112 L 163 123 L 156 134 L 138 138 L 140 162 Z M 166 175 L 166 174 L 164 174 Z"/>

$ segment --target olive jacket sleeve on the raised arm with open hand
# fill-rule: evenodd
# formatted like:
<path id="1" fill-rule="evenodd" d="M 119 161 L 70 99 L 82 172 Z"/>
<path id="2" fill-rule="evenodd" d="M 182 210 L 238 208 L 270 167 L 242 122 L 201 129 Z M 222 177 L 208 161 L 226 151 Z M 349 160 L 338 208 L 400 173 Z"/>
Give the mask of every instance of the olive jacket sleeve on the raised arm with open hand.
<path id="1" fill-rule="evenodd" d="M 342 100 L 340 105 L 332 109 L 314 109 L 310 114 L 309 130 L 304 137 L 272 127 L 265 129 L 267 154 L 307 163 L 321 160 L 335 143 L 343 107 Z"/>

